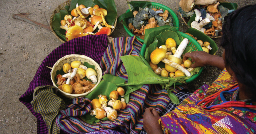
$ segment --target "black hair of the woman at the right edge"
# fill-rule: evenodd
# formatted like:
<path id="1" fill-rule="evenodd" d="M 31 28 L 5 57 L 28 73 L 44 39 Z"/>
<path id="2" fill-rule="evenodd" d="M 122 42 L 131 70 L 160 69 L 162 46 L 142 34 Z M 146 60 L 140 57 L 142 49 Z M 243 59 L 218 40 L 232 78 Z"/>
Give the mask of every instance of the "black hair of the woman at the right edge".
<path id="1" fill-rule="evenodd" d="M 247 86 L 246 96 L 255 99 L 256 4 L 235 10 L 224 20 L 221 46 L 225 49 L 225 65 Z"/>

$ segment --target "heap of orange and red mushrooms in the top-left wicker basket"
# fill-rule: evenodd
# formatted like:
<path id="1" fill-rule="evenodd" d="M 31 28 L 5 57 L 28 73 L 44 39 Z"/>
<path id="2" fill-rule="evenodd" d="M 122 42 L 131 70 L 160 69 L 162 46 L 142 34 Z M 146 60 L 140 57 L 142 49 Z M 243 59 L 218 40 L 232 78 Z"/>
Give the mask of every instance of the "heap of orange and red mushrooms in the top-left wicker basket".
<path id="1" fill-rule="evenodd" d="M 114 26 L 107 24 L 104 18 L 107 13 L 106 9 L 99 8 L 98 5 L 86 8 L 84 5 L 77 4 L 76 8 L 71 11 L 73 17 L 65 15 L 64 20 L 60 22 L 60 28 L 66 30 L 67 41 L 86 35 L 107 34 L 109 36 Z M 97 28 L 99 30 L 94 34 Z"/>

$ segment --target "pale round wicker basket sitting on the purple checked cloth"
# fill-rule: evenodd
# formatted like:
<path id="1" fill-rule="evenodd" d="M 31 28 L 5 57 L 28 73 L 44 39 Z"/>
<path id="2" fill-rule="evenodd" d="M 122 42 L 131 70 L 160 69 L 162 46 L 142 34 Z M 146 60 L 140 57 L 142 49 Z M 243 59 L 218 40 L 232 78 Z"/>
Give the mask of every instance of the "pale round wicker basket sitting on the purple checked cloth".
<path id="1" fill-rule="evenodd" d="M 90 91 L 82 93 L 82 94 L 70 94 L 70 93 L 66 93 L 66 92 L 60 90 L 58 88 L 58 86 L 55 84 L 54 78 L 55 78 L 55 75 L 56 75 L 56 71 L 61 70 L 65 63 L 71 64 L 71 62 L 73 62 L 73 61 L 80 61 L 81 63 L 87 62 L 90 65 L 95 66 L 95 70 L 97 72 L 97 84 Z M 59 59 L 54 64 L 54 66 L 52 67 L 52 71 L 51 71 L 51 79 L 52 79 L 53 85 L 56 86 L 59 89 L 59 92 L 62 95 L 64 95 L 67 98 L 71 98 L 71 99 L 76 98 L 76 97 L 84 97 L 85 95 L 87 95 L 88 93 L 93 91 L 97 87 L 97 85 L 100 83 L 101 78 L 102 78 L 102 71 L 101 71 L 100 66 L 94 60 L 92 60 L 91 58 L 89 58 L 87 56 L 84 56 L 84 55 L 66 55 L 66 56 L 62 57 L 61 59 Z"/>

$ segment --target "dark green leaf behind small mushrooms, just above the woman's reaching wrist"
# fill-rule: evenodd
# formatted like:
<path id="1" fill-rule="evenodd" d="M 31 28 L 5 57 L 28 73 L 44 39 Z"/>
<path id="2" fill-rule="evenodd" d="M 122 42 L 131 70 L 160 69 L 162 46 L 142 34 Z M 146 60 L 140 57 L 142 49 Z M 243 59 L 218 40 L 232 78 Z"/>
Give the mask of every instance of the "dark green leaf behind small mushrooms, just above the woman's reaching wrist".
<path id="1" fill-rule="evenodd" d="M 218 51 L 218 46 L 216 45 L 216 43 L 209 36 L 206 36 L 204 33 L 200 32 L 194 28 L 189 28 L 186 31 L 186 33 L 193 35 L 198 40 L 202 40 L 203 42 L 209 42 L 210 47 L 212 48 L 212 50 L 210 50 L 209 54 L 214 55 Z"/>

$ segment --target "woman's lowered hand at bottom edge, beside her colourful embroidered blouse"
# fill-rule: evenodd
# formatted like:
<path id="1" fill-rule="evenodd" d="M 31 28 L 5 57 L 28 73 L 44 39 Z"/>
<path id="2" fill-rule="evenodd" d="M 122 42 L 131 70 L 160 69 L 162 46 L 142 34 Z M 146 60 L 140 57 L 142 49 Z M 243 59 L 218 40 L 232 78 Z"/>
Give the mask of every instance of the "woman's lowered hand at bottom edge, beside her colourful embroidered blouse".
<path id="1" fill-rule="evenodd" d="M 159 118 L 160 116 L 158 112 L 153 107 L 145 109 L 143 115 L 143 128 L 148 134 L 163 134 L 162 127 L 158 123 Z"/>

